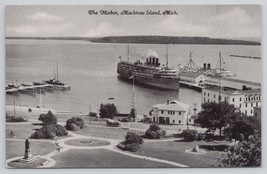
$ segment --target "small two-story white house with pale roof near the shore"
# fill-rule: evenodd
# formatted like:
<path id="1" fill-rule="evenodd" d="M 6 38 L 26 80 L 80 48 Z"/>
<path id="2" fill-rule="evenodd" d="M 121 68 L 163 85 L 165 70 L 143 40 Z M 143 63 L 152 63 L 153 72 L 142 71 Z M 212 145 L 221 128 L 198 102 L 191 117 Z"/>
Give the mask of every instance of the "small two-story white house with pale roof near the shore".
<path id="1" fill-rule="evenodd" d="M 152 121 L 159 124 L 194 124 L 191 106 L 176 100 L 153 106 Z"/>

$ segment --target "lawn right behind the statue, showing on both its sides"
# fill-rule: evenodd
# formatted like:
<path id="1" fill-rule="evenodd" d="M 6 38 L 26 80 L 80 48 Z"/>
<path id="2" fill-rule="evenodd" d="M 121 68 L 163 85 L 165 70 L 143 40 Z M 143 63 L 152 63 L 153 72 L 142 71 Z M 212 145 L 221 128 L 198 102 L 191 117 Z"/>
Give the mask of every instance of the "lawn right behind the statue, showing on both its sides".
<path id="1" fill-rule="evenodd" d="M 30 140 L 30 148 L 33 155 L 46 155 L 57 149 L 57 146 L 50 142 L 37 142 Z M 23 156 L 25 150 L 24 141 L 6 141 L 6 159 Z"/>

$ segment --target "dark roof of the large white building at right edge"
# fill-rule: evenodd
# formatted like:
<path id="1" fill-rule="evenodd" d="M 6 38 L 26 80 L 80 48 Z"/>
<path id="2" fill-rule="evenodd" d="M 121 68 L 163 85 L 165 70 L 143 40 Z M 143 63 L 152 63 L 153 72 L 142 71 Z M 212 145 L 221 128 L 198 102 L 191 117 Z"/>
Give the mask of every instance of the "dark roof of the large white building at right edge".
<path id="1" fill-rule="evenodd" d="M 255 93 L 261 93 L 261 89 L 246 89 L 246 90 L 242 90 L 242 89 L 235 89 L 235 88 L 229 88 L 229 87 L 219 87 L 219 86 L 209 86 L 207 88 L 205 88 L 206 90 L 210 90 L 210 91 L 219 91 L 219 89 L 221 89 L 221 92 L 224 94 L 255 94 Z"/>

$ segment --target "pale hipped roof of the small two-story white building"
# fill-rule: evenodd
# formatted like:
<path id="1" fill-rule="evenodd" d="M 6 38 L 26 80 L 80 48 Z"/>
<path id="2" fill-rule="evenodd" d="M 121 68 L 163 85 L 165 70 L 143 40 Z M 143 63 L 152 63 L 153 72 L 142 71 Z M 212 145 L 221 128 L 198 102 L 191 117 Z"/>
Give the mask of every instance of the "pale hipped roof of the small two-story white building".
<path id="1" fill-rule="evenodd" d="M 153 107 L 157 107 L 159 110 L 187 111 L 190 108 L 190 105 L 173 100 L 170 101 L 169 104 L 157 104 Z"/>

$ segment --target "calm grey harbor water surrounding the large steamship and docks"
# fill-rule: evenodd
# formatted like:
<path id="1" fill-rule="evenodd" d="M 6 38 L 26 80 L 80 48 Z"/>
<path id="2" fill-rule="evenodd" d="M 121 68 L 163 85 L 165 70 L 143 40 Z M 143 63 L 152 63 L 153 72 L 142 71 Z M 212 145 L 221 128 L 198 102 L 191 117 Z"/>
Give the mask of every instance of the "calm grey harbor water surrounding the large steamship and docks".
<path id="1" fill-rule="evenodd" d="M 158 55 L 161 64 L 166 63 L 166 45 L 130 44 L 130 61 L 150 54 Z M 185 65 L 191 51 L 195 63 L 211 63 L 216 66 L 222 52 L 225 69 L 237 74 L 238 79 L 261 82 L 261 60 L 230 57 L 242 55 L 261 57 L 260 46 L 242 45 L 169 45 L 168 62 L 172 68 Z M 42 103 L 47 108 L 72 112 L 97 112 L 101 103 L 114 103 L 121 113 L 130 111 L 132 84 L 117 78 L 117 63 L 127 60 L 127 44 L 104 44 L 87 41 L 61 40 L 6 40 L 6 84 L 32 83 L 54 77 L 58 64 L 59 79 L 67 83 L 70 91 L 47 92 Z M 37 106 L 40 96 L 7 95 L 6 104 Z M 110 100 L 110 98 L 114 98 Z M 148 114 L 152 106 L 167 100 L 179 100 L 189 105 L 201 105 L 201 93 L 180 88 L 179 91 L 164 91 L 135 86 L 138 114 Z"/>

